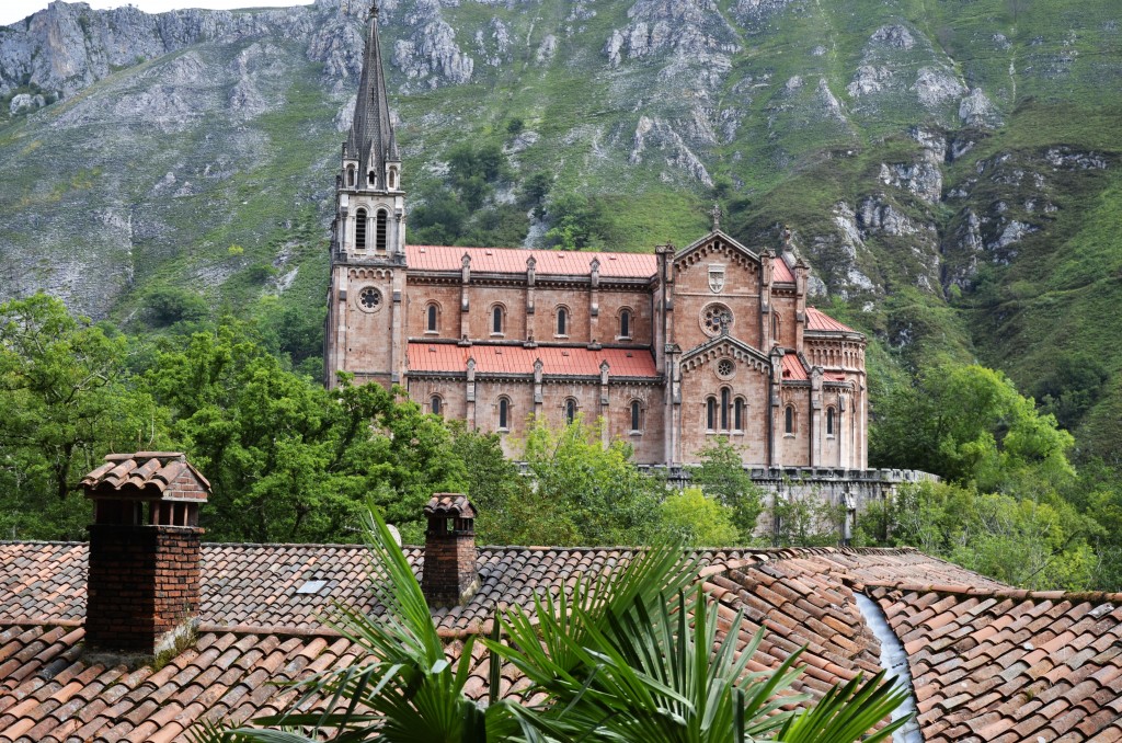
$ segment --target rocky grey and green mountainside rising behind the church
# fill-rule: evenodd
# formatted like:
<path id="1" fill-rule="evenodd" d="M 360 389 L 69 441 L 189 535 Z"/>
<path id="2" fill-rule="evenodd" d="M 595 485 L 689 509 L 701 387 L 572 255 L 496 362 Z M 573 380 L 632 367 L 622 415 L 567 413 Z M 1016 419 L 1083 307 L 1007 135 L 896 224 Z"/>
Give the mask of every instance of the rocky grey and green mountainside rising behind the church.
<path id="1" fill-rule="evenodd" d="M 783 224 L 885 369 L 980 358 L 1092 451 L 1122 414 L 1113 0 L 384 0 L 414 210 L 463 143 L 490 204 L 590 198 L 608 248 Z M 150 323 L 159 290 L 319 312 L 365 0 L 55 2 L 0 28 L 0 296 Z M 552 207 L 552 209 L 551 209 Z M 320 317 L 320 315 L 316 315 Z M 886 372 L 888 374 L 888 372 Z"/>

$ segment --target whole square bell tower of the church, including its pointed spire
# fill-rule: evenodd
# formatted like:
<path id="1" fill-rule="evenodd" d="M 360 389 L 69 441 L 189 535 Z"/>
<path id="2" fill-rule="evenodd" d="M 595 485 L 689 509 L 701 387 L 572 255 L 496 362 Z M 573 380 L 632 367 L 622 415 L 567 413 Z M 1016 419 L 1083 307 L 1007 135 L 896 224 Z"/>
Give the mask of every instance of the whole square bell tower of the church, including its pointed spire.
<path id="1" fill-rule="evenodd" d="M 405 369 L 405 192 L 378 39 L 370 7 L 355 118 L 335 176 L 324 380 L 350 372 L 357 383 L 389 386 Z"/>

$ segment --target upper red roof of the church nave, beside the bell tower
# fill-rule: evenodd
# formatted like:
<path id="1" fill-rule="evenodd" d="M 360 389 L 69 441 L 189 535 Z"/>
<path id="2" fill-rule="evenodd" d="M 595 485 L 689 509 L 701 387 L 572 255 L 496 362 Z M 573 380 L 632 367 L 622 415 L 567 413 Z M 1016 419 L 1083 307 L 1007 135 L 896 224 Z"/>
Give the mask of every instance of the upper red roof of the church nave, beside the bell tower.
<path id="1" fill-rule="evenodd" d="M 458 248 L 439 245 L 410 245 L 405 259 L 410 270 L 460 270 L 463 256 L 471 258 L 471 270 L 485 274 L 526 273 L 526 259 L 534 258 L 539 276 L 591 276 L 591 263 L 598 260 L 601 278 L 651 278 L 657 273 L 654 255 L 645 253 L 585 253 L 578 250 L 528 250 L 525 248 Z"/>

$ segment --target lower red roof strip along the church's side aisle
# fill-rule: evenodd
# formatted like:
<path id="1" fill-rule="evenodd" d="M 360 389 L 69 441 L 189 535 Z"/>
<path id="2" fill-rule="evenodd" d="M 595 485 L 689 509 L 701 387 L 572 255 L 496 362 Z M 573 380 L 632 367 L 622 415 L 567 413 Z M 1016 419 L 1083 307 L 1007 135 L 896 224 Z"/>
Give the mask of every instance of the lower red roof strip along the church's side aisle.
<path id="1" fill-rule="evenodd" d="M 410 372 L 436 372 L 465 374 L 468 359 L 476 360 L 477 374 L 533 374 L 534 361 L 542 360 L 542 373 L 554 376 L 600 375 L 600 364 L 608 363 L 611 377 L 657 378 L 654 357 L 645 349 L 628 350 L 604 348 L 598 351 L 588 348 L 559 348 L 542 346 L 453 346 L 451 343 L 426 343 L 414 341 L 408 345 Z"/>

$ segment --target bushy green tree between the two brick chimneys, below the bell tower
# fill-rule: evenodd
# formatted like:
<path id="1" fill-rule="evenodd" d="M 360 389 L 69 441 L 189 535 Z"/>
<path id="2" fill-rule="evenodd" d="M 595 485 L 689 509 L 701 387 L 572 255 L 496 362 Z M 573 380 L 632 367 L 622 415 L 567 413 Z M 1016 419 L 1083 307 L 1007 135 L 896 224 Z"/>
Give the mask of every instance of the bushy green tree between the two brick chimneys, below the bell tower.
<path id="1" fill-rule="evenodd" d="M 165 349 L 146 379 L 211 480 L 204 525 L 215 539 L 353 541 L 367 498 L 407 526 L 433 492 L 465 486 L 448 430 L 399 391 L 342 375 L 328 392 L 286 372 L 243 324 Z"/>

